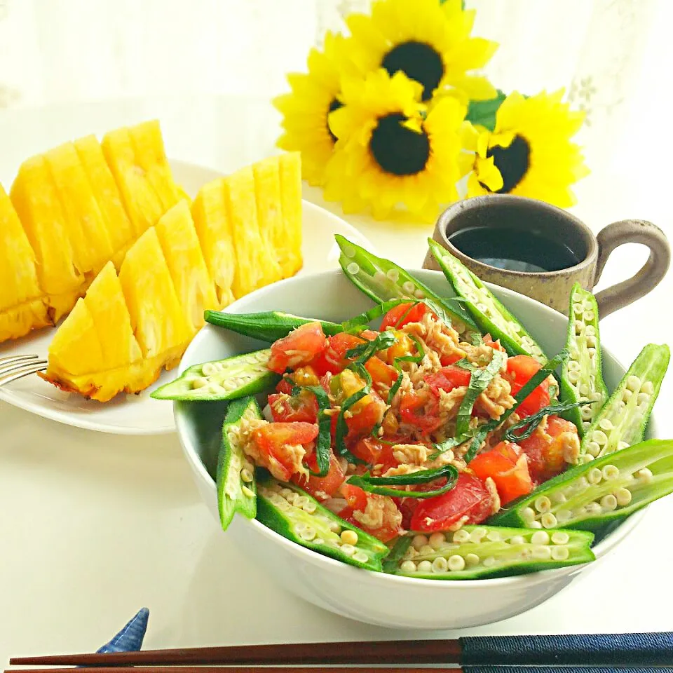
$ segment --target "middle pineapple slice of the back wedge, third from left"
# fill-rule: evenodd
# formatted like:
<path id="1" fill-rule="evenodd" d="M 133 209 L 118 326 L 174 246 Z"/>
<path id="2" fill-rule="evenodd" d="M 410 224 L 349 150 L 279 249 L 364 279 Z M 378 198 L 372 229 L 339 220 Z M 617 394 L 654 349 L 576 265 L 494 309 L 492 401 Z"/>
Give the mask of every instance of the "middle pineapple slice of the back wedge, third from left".
<path id="1" fill-rule="evenodd" d="M 114 252 L 112 261 L 119 268 L 126 250 L 135 240 L 133 226 L 124 210 L 114 177 L 105 163 L 100 142 L 94 135 L 87 135 L 76 140 L 74 146 L 107 228 Z"/>

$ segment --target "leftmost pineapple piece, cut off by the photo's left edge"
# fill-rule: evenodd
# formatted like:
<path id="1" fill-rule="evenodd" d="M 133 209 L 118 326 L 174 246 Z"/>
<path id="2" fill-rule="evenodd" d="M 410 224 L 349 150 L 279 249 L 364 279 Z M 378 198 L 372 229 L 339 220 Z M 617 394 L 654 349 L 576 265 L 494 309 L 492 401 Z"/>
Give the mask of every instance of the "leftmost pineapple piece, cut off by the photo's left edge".
<path id="1" fill-rule="evenodd" d="M 42 295 L 35 254 L 0 185 L 0 342 L 50 325 Z"/>

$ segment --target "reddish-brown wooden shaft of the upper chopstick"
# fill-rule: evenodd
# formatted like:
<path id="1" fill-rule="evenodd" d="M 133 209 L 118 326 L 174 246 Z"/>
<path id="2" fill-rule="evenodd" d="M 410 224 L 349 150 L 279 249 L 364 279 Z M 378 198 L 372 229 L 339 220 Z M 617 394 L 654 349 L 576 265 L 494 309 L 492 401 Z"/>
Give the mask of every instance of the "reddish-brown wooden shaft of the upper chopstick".
<path id="1" fill-rule="evenodd" d="M 232 645 L 141 650 L 109 654 L 62 654 L 13 657 L 13 666 L 197 666 L 197 665 L 405 665 L 459 664 L 463 648 L 457 640 L 383 640 L 356 643 Z M 340 669 L 343 673 L 344 669 Z"/>

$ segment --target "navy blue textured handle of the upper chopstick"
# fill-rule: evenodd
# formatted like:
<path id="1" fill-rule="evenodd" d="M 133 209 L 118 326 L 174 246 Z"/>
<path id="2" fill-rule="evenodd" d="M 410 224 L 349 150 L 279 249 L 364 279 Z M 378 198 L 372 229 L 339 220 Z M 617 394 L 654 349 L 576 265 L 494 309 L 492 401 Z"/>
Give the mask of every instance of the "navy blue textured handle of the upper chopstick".
<path id="1" fill-rule="evenodd" d="M 461 638 L 461 663 L 486 666 L 587 665 L 616 667 L 673 665 L 673 632 L 560 636 L 482 636 Z M 467 671 L 468 669 L 465 668 Z M 533 669 L 526 669 L 533 673 Z M 565 673 L 569 673 L 569 669 Z M 594 671 L 593 673 L 596 673 Z"/>

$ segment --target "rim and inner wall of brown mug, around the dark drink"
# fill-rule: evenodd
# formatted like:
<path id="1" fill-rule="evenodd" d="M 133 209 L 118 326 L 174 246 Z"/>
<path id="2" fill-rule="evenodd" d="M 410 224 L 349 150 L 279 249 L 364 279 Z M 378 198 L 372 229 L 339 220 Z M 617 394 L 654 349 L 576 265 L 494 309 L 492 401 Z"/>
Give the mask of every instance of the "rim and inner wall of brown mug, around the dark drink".
<path id="1" fill-rule="evenodd" d="M 564 220 L 572 224 L 578 231 L 580 231 L 582 237 L 587 244 L 587 254 L 585 258 L 574 266 L 566 266 L 565 268 L 559 268 L 557 271 L 512 271 L 509 268 L 500 268 L 498 266 L 491 266 L 490 264 L 484 264 L 484 262 L 474 259 L 469 255 L 465 254 L 459 250 L 447 236 L 447 228 L 449 222 L 451 222 L 458 213 L 465 210 L 475 210 L 480 208 L 493 208 L 494 206 L 510 204 L 510 203 L 519 203 L 528 208 L 533 208 L 534 210 L 545 210 L 556 212 L 559 217 L 562 217 Z M 452 230 L 459 231 L 459 227 Z M 489 229 L 489 226 L 485 225 L 484 229 Z M 500 273 L 508 274 L 509 276 L 517 276 L 518 278 L 548 278 L 548 277 L 558 277 L 566 276 L 568 273 L 577 273 L 583 271 L 585 268 L 596 264 L 598 259 L 598 243 L 596 240 L 596 235 L 589 229 L 589 227 L 582 222 L 581 219 L 571 213 L 563 210 L 562 208 L 557 208 L 555 205 L 550 203 L 545 203 L 544 201 L 536 200 L 534 198 L 526 198 L 525 196 L 511 196 L 509 194 L 491 194 L 489 196 L 473 196 L 472 198 L 466 198 L 464 200 L 456 201 L 449 205 L 449 208 L 442 212 L 439 219 L 437 219 L 437 230 L 439 232 L 442 240 L 440 243 L 451 252 L 455 257 L 458 257 L 461 261 L 469 261 L 470 264 L 475 266 L 479 271 L 475 271 L 477 276 L 480 276 L 480 272 L 489 273 L 491 271 L 498 271 Z"/>

